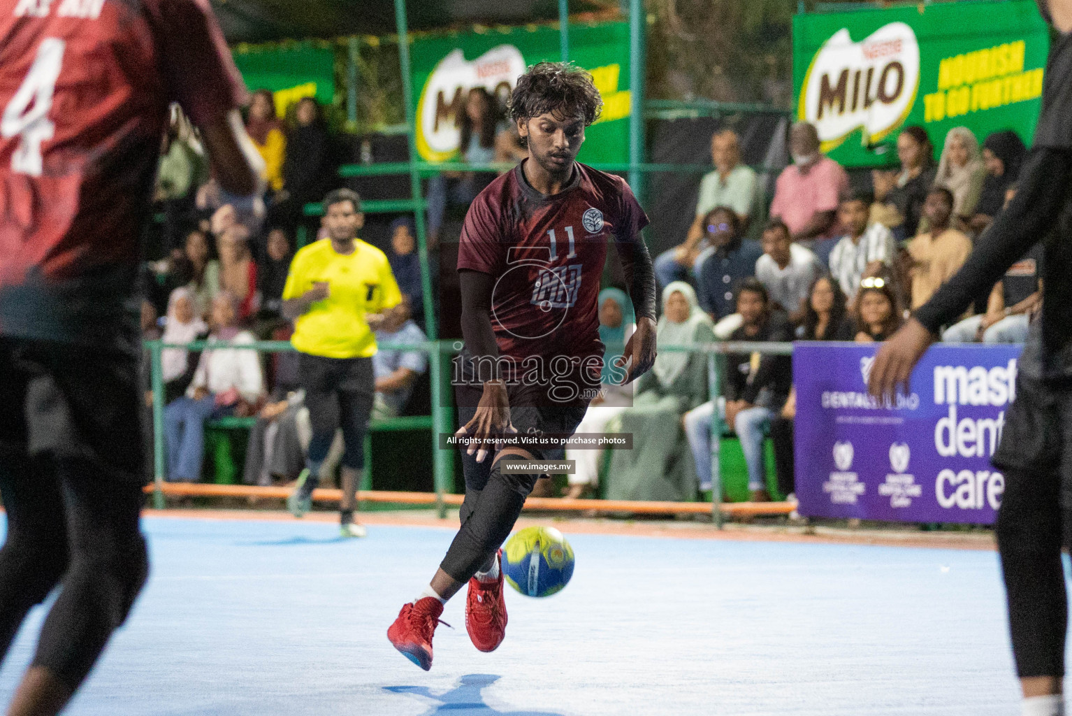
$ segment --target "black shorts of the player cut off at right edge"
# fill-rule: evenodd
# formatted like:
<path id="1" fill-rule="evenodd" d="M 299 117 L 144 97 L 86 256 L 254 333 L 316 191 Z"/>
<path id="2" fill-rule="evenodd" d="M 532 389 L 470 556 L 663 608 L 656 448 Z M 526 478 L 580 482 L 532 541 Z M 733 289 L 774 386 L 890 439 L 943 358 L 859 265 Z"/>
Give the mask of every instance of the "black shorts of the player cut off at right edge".
<path id="1" fill-rule="evenodd" d="M 1044 383 L 1023 373 L 1016 378 L 994 465 L 1072 476 L 1072 382 Z"/>

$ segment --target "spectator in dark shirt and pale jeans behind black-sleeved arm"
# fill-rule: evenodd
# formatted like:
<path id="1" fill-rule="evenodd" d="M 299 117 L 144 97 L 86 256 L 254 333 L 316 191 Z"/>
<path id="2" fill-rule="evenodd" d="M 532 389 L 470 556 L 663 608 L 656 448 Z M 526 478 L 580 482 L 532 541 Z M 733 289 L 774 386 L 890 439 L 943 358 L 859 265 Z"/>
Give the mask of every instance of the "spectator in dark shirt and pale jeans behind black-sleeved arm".
<path id="1" fill-rule="evenodd" d="M 986 313 L 946 329 L 947 343 L 1024 343 L 1031 316 L 1042 308 L 1043 244 L 1034 244 L 994 284 Z"/>

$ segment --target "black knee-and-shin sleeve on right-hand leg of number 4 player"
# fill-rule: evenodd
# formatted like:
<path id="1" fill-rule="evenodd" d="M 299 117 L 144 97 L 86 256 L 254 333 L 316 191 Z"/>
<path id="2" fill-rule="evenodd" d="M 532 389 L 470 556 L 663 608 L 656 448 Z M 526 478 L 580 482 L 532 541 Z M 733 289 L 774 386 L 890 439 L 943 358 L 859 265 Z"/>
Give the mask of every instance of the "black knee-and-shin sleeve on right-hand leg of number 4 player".
<path id="1" fill-rule="evenodd" d="M 130 614 L 149 575 L 145 539 L 86 546 L 71 560 L 63 588 L 45 618 L 33 665 L 72 689 L 89 674 L 111 633 Z"/>

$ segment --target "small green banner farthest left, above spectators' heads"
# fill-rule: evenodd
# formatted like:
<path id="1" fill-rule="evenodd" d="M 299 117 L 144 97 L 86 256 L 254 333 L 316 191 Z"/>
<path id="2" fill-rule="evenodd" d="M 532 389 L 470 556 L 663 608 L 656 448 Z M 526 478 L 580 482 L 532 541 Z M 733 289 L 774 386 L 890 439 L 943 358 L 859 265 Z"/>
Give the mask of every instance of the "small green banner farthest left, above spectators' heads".
<path id="1" fill-rule="evenodd" d="M 274 92 L 280 117 L 303 96 L 314 96 L 322 105 L 334 99 L 334 53 L 330 47 L 309 43 L 271 48 L 239 46 L 232 56 L 248 90 Z"/>

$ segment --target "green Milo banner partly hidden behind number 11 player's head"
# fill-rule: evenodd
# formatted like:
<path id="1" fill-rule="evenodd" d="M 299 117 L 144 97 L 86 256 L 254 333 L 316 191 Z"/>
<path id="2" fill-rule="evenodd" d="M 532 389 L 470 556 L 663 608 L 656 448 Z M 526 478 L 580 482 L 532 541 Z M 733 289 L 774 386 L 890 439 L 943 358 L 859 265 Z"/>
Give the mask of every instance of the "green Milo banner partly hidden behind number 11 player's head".
<path id="1" fill-rule="evenodd" d="M 560 53 L 553 27 L 492 28 L 415 40 L 413 101 L 421 159 L 457 158 L 459 121 L 471 87 L 483 87 L 505 100 L 527 65 L 559 60 Z M 602 116 L 585 132 L 580 161 L 628 162 L 628 24 L 570 25 L 569 59 L 592 73 L 604 100 Z"/>

